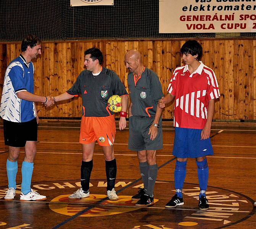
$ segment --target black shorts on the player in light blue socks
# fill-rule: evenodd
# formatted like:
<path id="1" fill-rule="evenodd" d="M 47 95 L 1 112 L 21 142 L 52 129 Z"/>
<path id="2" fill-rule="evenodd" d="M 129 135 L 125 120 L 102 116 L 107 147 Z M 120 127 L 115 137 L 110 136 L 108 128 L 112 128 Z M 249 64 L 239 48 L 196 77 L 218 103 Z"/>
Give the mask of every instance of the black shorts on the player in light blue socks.
<path id="1" fill-rule="evenodd" d="M 24 123 L 15 123 L 3 119 L 5 145 L 24 147 L 27 141 L 37 141 L 36 118 Z"/>

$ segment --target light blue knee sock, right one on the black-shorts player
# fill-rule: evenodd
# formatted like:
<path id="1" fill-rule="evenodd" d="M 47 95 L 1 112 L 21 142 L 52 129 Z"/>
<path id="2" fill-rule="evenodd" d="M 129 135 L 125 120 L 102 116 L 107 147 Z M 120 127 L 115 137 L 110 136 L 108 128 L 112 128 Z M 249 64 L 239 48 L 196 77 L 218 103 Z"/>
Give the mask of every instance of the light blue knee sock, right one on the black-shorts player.
<path id="1" fill-rule="evenodd" d="M 21 182 L 21 192 L 26 195 L 31 192 L 31 179 L 33 173 L 34 163 L 27 161 L 22 162 L 21 173 L 22 173 L 22 182 Z"/>

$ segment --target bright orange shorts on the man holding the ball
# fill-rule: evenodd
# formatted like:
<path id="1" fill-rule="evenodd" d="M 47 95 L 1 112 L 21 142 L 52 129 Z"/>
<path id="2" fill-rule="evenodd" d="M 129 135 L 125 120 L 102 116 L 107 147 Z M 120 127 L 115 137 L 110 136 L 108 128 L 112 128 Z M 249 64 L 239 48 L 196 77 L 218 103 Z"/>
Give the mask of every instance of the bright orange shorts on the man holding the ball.
<path id="1" fill-rule="evenodd" d="M 101 146 L 113 145 L 115 141 L 115 115 L 106 117 L 84 117 L 81 120 L 79 143 L 97 141 Z"/>

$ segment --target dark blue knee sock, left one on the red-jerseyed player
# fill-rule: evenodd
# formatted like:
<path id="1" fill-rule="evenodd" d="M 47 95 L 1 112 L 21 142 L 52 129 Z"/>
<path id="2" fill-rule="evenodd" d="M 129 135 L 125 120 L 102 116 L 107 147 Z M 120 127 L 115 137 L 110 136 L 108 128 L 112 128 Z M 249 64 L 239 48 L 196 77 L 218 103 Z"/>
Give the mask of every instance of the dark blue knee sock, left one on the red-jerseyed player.
<path id="1" fill-rule="evenodd" d="M 174 171 L 174 182 L 176 194 L 182 198 L 182 188 L 186 177 L 186 161 L 176 161 L 176 167 Z"/>

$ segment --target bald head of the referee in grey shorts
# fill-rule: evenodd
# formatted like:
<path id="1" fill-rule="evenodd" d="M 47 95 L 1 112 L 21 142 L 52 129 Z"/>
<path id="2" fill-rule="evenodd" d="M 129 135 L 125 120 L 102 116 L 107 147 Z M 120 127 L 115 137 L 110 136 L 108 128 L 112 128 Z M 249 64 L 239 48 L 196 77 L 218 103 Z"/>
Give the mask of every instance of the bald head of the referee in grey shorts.
<path id="1" fill-rule="evenodd" d="M 141 53 L 136 49 L 131 49 L 125 54 L 125 65 L 129 71 L 137 73 L 141 71 L 143 63 L 141 61 Z"/>

